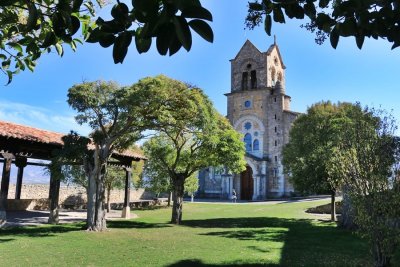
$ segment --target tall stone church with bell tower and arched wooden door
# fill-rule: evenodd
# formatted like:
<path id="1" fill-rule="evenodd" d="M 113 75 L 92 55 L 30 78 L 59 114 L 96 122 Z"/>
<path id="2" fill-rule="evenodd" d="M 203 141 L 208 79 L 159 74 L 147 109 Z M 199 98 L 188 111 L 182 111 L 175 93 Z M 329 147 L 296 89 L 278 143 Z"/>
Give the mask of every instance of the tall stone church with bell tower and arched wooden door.
<path id="1" fill-rule="evenodd" d="M 285 64 L 279 47 L 261 52 L 249 40 L 231 62 L 227 118 L 243 135 L 246 170 L 232 174 L 209 167 L 199 172 L 199 196 L 264 200 L 289 196 L 294 189 L 283 172 L 282 149 L 299 113 L 290 110 Z"/>

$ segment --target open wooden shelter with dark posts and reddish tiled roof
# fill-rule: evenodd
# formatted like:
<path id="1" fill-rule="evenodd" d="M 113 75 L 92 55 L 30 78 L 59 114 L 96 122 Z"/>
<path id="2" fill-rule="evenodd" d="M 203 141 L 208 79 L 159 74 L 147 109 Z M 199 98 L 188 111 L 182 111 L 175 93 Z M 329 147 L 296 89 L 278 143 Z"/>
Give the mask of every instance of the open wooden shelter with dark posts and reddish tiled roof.
<path id="1" fill-rule="evenodd" d="M 30 162 L 28 159 L 51 160 L 53 151 L 63 147 L 62 137 L 65 134 L 37 129 L 16 123 L 0 121 L 0 162 L 3 162 L 3 173 L 0 188 L 0 219 L 7 210 L 8 188 L 10 184 L 11 164 L 18 168 L 15 199 L 21 198 L 24 168 L 27 165 L 44 166 L 43 163 Z M 145 157 L 133 151 L 117 152 L 112 155 L 112 164 L 121 166 L 126 171 L 125 199 L 123 215 L 129 217 L 130 180 L 132 162 L 145 160 Z M 60 180 L 50 173 L 50 218 L 58 220 L 58 198 Z M 4 216 L 3 216 L 4 217 Z"/>

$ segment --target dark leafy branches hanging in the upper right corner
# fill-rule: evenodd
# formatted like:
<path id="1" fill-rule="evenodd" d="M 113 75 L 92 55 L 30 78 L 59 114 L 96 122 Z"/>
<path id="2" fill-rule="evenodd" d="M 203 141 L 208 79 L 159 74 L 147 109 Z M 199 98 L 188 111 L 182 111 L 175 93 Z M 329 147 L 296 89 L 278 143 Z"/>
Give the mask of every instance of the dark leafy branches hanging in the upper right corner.
<path id="1" fill-rule="evenodd" d="M 365 37 L 372 37 L 387 39 L 394 49 L 400 46 L 399 14 L 400 5 L 395 0 L 253 0 L 249 3 L 246 25 L 252 29 L 264 22 L 266 33 L 271 35 L 272 20 L 285 23 L 285 17 L 307 17 L 309 22 L 302 26 L 316 32 L 318 44 L 329 38 L 336 48 L 340 36 L 354 36 L 361 49 Z"/>

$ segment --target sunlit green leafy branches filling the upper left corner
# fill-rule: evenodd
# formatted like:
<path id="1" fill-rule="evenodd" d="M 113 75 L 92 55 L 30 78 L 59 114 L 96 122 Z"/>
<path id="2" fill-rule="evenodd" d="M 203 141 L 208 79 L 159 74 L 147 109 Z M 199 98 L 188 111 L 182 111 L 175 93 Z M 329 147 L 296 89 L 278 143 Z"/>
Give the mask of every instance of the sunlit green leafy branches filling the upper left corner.
<path id="1" fill-rule="evenodd" d="M 101 0 L 7 0 L 0 2 L 0 70 L 13 75 L 29 69 L 43 53 L 53 49 L 62 56 L 64 46 L 72 50 L 82 43 L 76 38 L 82 28 L 88 34 L 95 5 Z"/>

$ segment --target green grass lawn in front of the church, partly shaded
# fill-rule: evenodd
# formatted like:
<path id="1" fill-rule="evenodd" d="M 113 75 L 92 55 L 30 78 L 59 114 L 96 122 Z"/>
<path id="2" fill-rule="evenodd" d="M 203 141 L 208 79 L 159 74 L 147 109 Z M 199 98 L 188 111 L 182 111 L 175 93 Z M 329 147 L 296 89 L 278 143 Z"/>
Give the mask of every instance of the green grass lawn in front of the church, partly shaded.
<path id="1" fill-rule="evenodd" d="M 371 266 L 363 240 L 304 213 L 323 203 L 185 203 L 181 226 L 168 224 L 168 208 L 139 210 L 103 233 L 0 230 L 0 266 Z"/>

